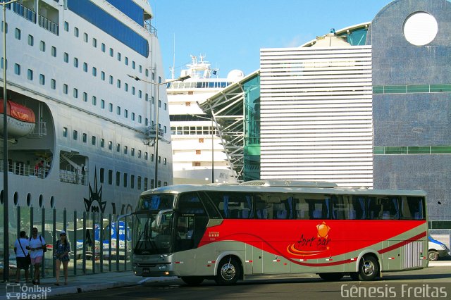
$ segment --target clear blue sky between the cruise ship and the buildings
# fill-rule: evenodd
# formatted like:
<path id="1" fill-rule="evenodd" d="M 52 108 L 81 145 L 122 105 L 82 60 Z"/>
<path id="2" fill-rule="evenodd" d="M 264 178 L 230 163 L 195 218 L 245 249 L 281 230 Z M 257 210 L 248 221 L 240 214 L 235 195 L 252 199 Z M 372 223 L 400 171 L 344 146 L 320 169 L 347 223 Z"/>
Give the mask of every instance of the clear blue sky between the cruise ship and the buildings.
<path id="1" fill-rule="evenodd" d="M 391 0 L 150 0 L 166 78 L 205 56 L 218 77 L 259 69 L 261 48 L 300 46 L 371 22 Z M 175 49 L 175 55 L 174 55 Z M 175 63 L 174 63 L 175 57 Z"/>

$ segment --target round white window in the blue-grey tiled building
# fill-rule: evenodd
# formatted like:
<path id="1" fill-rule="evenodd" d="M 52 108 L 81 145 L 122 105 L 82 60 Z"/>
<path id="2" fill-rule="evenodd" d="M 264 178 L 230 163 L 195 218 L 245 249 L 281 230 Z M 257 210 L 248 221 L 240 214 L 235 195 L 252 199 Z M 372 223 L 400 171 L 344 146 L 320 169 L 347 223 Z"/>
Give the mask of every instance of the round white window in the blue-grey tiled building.
<path id="1" fill-rule="evenodd" d="M 407 42 L 416 46 L 424 46 L 435 39 L 438 23 L 433 15 L 417 11 L 407 17 L 402 30 Z"/>

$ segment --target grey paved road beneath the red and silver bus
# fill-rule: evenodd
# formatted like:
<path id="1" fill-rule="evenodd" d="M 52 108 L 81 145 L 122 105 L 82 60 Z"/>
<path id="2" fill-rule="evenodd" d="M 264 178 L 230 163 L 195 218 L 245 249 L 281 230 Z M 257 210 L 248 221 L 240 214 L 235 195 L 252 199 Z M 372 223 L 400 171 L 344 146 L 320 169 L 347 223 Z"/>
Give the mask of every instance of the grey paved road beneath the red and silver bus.
<path id="1" fill-rule="evenodd" d="M 433 292 L 436 292 L 433 294 Z M 416 293 L 416 294 L 415 294 Z M 444 294 L 446 293 L 446 295 Z M 261 276 L 218 286 L 206 280 L 199 287 L 189 287 L 181 280 L 154 282 L 134 287 L 51 297 L 51 299 L 440 299 L 451 296 L 450 267 L 434 267 L 401 273 L 384 273 L 376 282 L 356 282 L 344 277 L 340 282 L 324 282 L 315 274 L 296 276 Z M 437 296 L 437 297 L 435 297 Z M 443 297 L 442 297 L 443 298 Z"/>

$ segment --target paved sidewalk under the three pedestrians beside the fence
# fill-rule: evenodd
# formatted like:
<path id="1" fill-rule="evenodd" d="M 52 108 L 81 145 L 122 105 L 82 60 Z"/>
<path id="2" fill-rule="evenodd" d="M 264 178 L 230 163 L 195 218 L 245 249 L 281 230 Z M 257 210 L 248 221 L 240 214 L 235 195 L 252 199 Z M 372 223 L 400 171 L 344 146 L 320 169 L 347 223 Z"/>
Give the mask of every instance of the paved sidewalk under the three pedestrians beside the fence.
<path id="1" fill-rule="evenodd" d="M 40 295 L 42 296 L 41 299 L 45 299 L 63 294 L 77 294 L 99 291 L 101 289 L 111 289 L 113 287 L 140 285 L 144 282 L 160 282 L 175 279 L 177 279 L 177 277 L 139 277 L 135 276 L 132 271 L 122 271 L 69 277 L 68 285 L 64 285 L 64 277 L 60 276 L 59 286 L 54 285 L 56 282 L 54 277 L 41 279 L 40 285 L 28 283 L 26 287 L 24 287 L 25 282 L 20 282 L 20 284 L 14 282 L 0 282 L 0 300 L 8 299 L 6 293 L 11 293 L 11 299 L 18 299 L 15 294 L 23 292 L 30 295 Z"/>

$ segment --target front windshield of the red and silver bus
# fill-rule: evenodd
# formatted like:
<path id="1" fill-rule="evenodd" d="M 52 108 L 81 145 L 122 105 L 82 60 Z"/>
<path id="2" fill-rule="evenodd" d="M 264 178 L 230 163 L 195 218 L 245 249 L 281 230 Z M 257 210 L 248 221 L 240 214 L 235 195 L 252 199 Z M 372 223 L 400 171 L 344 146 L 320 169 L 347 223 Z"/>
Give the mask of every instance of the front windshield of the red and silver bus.
<path id="1" fill-rule="evenodd" d="M 173 211 L 135 214 L 134 254 L 167 254 L 171 252 Z"/>

